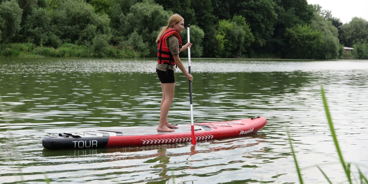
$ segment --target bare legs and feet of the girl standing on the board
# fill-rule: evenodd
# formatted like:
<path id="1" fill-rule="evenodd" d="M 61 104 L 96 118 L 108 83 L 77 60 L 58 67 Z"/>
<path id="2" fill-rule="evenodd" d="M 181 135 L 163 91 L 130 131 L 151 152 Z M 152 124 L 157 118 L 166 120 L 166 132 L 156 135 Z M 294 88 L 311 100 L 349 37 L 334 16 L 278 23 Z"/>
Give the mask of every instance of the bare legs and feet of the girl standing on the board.
<path id="1" fill-rule="evenodd" d="M 170 128 L 177 128 L 177 127 L 171 125 L 167 121 L 167 114 L 169 113 L 171 102 L 173 102 L 174 99 L 175 83 L 161 83 L 161 88 L 162 88 L 161 112 L 160 112 L 159 126 L 157 130 L 164 132 L 173 132 L 174 130 Z"/>

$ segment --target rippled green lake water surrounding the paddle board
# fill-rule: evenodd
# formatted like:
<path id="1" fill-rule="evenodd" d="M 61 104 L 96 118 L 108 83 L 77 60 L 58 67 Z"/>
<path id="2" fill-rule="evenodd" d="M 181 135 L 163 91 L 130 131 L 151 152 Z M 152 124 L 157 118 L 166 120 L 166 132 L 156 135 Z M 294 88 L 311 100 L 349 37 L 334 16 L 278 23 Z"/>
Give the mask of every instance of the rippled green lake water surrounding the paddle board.
<path id="1" fill-rule="evenodd" d="M 50 151 L 60 132 L 155 126 L 155 59 L 0 58 L 0 183 L 346 183 L 324 112 L 325 89 L 346 162 L 368 175 L 368 61 L 193 59 L 195 122 L 264 116 L 236 138 L 132 148 Z M 183 60 L 185 65 L 187 61 Z M 190 123 L 177 69 L 171 123 Z"/>

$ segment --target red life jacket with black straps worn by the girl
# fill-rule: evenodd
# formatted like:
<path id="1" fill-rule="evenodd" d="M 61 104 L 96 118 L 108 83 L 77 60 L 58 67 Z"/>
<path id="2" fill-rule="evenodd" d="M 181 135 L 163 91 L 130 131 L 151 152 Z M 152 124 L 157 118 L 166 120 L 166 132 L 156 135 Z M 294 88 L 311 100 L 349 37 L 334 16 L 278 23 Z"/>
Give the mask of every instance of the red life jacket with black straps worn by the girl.
<path id="1" fill-rule="evenodd" d="M 167 29 L 166 32 L 160 38 L 158 49 L 157 49 L 157 59 L 158 64 L 171 64 L 175 65 L 173 54 L 171 54 L 170 49 L 167 48 L 166 39 L 171 36 L 175 35 L 176 38 L 179 40 L 179 49 L 181 48 L 181 38 L 179 34 L 174 29 Z"/>

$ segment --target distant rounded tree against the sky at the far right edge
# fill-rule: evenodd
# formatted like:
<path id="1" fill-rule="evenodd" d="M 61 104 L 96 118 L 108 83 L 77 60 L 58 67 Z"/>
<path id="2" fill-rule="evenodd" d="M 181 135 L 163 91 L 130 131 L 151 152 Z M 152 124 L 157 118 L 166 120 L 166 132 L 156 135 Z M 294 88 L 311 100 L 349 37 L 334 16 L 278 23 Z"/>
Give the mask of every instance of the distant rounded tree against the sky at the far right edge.
<path id="1" fill-rule="evenodd" d="M 340 40 L 347 47 L 358 42 L 368 43 L 368 21 L 354 17 L 348 24 L 342 25 Z"/>

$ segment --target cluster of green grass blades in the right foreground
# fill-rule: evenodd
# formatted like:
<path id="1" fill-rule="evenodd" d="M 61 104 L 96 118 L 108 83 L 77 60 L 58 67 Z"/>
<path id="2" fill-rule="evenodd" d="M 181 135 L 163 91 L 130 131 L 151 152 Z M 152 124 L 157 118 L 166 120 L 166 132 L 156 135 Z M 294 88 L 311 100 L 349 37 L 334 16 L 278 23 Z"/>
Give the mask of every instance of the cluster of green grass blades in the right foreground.
<path id="1" fill-rule="evenodd" d="M 332 135 L 332 138 L 333 138 L 333 142 L 335 144 L 337 154 L 339 155 L 339 161 L 343 166 L 344 173 L 346 174 L 346 177 L 347 177 L 347 181 L 350 184 L 353 184 L 353 181 L 352 181 L 352 178 L 351 178 L 351 176 L 352 176 L 351 175 L 351 163 L 347 163 L 347 162 L 344 161 L 342 151 L 341 151 L 340 146 L 339 146 L 339 142 L 337 141 L 335 128 L 333 127 L 332 118 L 331 118 L 331 115 L 330 115 L 330 111 L 329 111 L 326 96 L 325 96 L 325 91 L 323 90 L 322 86 L 321 86 L 321 94 L 322 94 L 323 106 L 325 107 L 326 117 L 327 117 L 327 120 L 328 120 L 328 125 L 329 125 L 331 135 Z M 287 135 L 289 137 L 290 148 L 291 148 L 291 152 L 293 153 L 294 162 L 295 162 L 296 169 L 297 169 L 297 172 L 298 172 L 299 181 L 300 181 L 301 184 L 303 184 L 300 168 L 298 166 L 298 162 L 297 162 L 297 159 L 296 159 L 296 156 L 295 156 L 296 154 L 295 154 L 295 151 L 293 149 L 293 145 L 291 144 L 291 138 L 290 138 L 289 130 L 287 132 Z M 328 178 L 328 176 L 325 174 L 325 172 L 323 172 L 323 170 L 319 166 L 317 166 L 317 167 L 321 171 L 323 176 L 326 178 L 328 183 L 332 184 L 331 180 Z M 367 177 L 364 176 L 364 174 L 361 172 L 361 170 L 359 168 L 358 168 L 358 173 L 359 173 L 360 183 L 363 184 L 365 182 L 366 184 L 368 184 Z M 353 175 L 353 177 L 354 177 L 354 175 Z"/>

